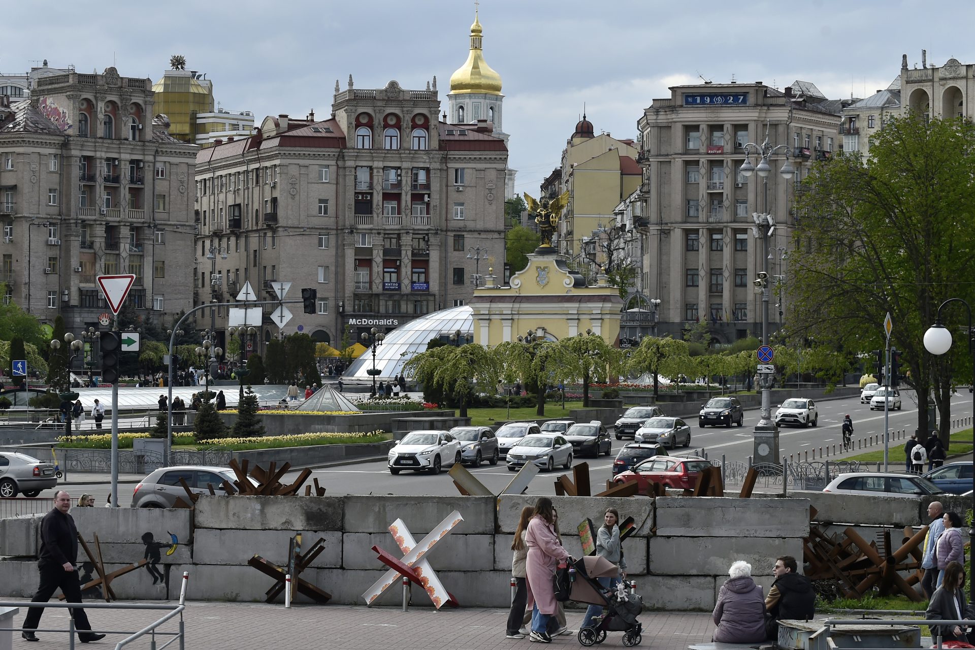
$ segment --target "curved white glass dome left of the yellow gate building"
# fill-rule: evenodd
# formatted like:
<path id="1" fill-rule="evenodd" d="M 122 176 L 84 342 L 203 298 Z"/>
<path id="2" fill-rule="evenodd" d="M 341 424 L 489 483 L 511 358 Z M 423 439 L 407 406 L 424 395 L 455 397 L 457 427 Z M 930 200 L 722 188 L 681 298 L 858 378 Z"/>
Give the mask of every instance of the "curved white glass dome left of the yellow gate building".
<path id="1" fill-rule="evenodd" d="M 375 349 L 376 379 L 392 379 L 403 372 L 403 366 L 417 352 L 426 350 L 431 338 L 449 336 L 458 329 L 463 334 L 474 333 L 473 310 L 468 306 L 451 307 L 427 314 L 386 334 L 382 345 Z M 343 373 L 346 377 L 371 381 L 367 370 L 372 368 L 372 351 L 352 362 Z"/>

